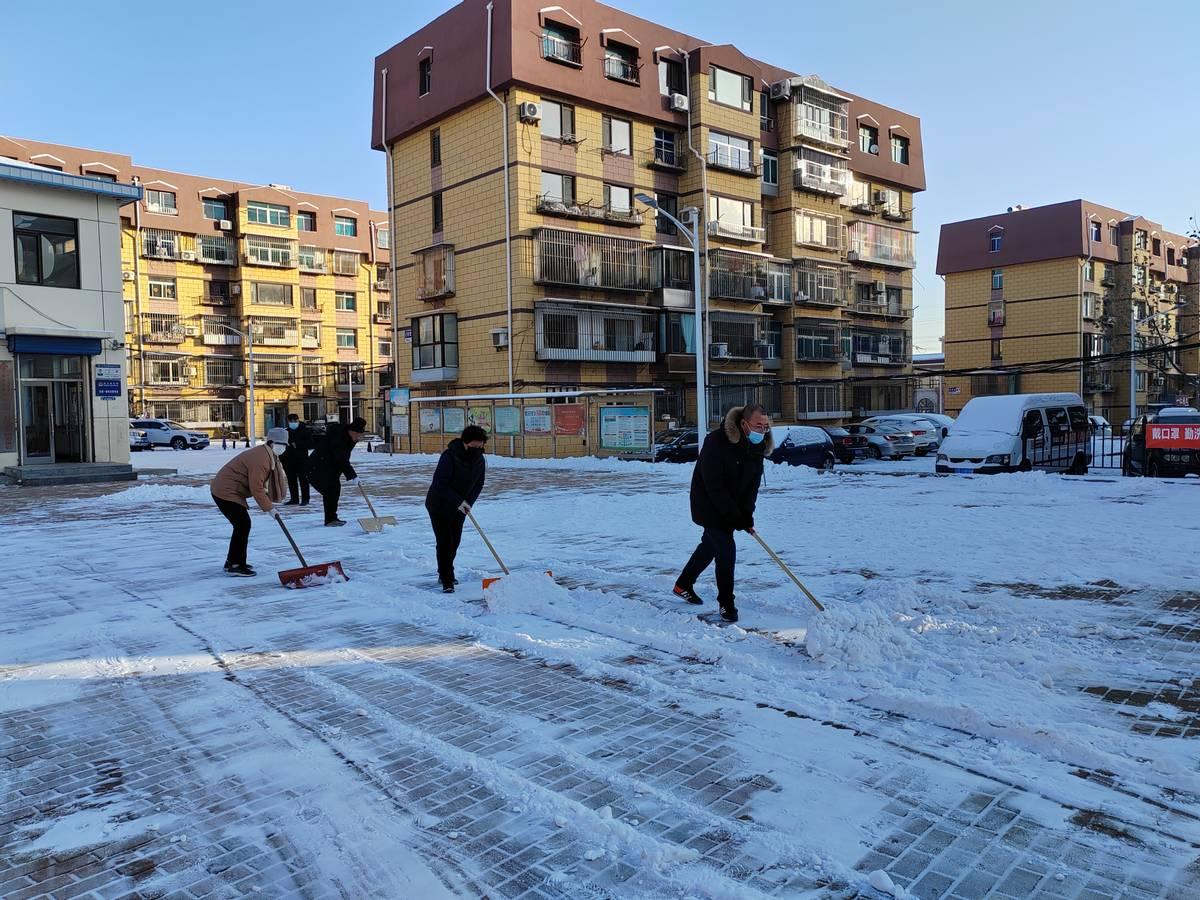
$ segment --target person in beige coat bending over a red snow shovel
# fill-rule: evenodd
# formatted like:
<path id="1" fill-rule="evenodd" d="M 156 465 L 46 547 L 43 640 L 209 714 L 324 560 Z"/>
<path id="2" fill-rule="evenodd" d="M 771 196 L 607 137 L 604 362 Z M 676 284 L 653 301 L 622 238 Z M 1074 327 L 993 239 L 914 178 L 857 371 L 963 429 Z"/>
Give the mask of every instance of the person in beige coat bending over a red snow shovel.
<path id="1" fill-rule="evenodd" d="M 271 517 L 280 515 L 275 504 L 287 497 L 287 480 L 278 457 L 287 449 L 287 428 L 271 428 L 266 432 L 265 444 L 238 454 L 212 479 L 212 502 L 233 526 L 224 564 L 229 575 L 248 577 L 256 574 L 246 564 L 246 545 L 250 542 L 250 505 L 246 500 L 253 497 L 263 512 Z"/>

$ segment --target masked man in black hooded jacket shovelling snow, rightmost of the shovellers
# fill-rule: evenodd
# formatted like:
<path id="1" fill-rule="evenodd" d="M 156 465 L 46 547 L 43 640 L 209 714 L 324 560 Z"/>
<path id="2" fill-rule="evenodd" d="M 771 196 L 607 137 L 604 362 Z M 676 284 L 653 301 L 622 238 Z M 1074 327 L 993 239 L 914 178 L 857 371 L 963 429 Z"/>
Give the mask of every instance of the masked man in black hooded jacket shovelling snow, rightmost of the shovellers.
<path id="1" fill-rule="evenodd" d="M 720 428 L 709 432 L 691 476 L 691 521 L 704 529 L 700 545 L 676 580 L 674 594 L 702 604 L 696 578 L 716 560 L 716 602 L 721 618 L 738 620 L 733 602 L 737 545 L 733 532 L 754 534 L 763 458 L 770 456 L 770 419 L 757 403 L 733 407 Z"/>

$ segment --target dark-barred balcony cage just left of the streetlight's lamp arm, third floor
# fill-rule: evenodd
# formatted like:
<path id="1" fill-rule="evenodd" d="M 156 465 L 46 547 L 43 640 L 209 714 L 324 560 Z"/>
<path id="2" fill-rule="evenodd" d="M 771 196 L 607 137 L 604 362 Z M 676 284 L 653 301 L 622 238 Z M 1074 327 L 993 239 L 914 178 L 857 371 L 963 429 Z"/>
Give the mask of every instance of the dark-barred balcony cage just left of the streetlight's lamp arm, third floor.
<path id="1" fill-rule="evenodd" d="M 629 238 L 539 228 L 534 281 L 601 290 L 650 290 L 649 245 Z"/>

